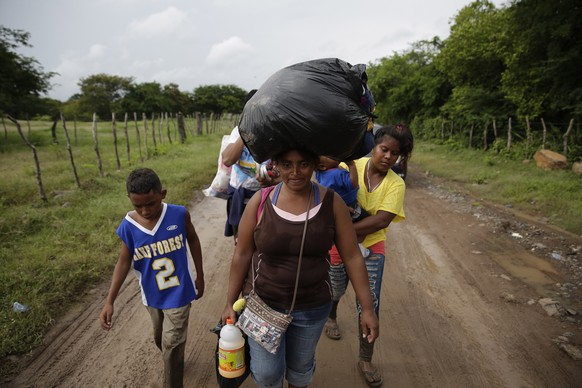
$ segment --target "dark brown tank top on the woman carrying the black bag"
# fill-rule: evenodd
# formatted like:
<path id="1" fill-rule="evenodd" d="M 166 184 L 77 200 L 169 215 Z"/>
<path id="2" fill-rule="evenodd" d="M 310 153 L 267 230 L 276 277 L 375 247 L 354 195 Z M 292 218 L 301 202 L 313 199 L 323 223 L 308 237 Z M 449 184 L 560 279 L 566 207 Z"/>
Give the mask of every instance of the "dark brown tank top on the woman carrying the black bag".
<path id="1" fill-rule="evenodd" d="M 307 223 L 294 310 L 331 301 L 328 251 L 335 237 L 333 198 L 334 192 L 327 189 L 321 208 Z M 271 199 L 266 199 L 261 222 L 254 231 L 256 249 L 252 263 L 256 275 L 255 292 L 271 307 L 291 307 L 304 222 L 282 218 L 273 209 Z M 253 287 L 251 276 L 249 270 L 245 295 Z"/>

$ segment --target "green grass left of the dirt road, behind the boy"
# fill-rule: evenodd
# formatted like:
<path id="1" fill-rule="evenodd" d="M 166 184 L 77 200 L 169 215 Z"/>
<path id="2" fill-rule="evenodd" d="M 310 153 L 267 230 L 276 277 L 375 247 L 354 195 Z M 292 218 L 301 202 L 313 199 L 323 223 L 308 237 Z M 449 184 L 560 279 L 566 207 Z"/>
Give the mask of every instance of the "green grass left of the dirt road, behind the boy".
<path id="1" fill-rule="evenodd" d="M 26 134 L 26 125 L 21 125 Z M 168 190 L 166 201 L 188 206 L 212 181 L 222 136 L 232 129 L 231 122 L 224 122 L 212 134 L 188 133 L 185 144 L 158 139 L 155 148 L 149 139 L 149 159 L 141 162 L 135 127 L 130 126 L 128 160 L 118 124 L 117 171 L 111 124 L 99 123 L 104 172 L 99 176 L 91 123 L 78 124 L 78 145 L 72 145 L 77 187 L 62 126 L 57 130 L 59 143 L 53 144 L 50 125 L 33 122 L 27 136 L 38 152 L 47 202 L 40 199 L 31 149 L 13 127 L 4 137 L 0 134 L 0 377 L 15 372 L 10 355 L 38 346 L 71 303 L 110 279 L 119 254 L 115 230 L 131 209 L 125 191 L 129 171 L 153 168 Z M 67 128 L 73 143 L 72 125 L 67 123 Z M 143 129 L 140 134 L 143 142 Z M 143 144 L 142 155 L 145 159 Z M 16 301 L 30 310 L 14 312 Z"/>

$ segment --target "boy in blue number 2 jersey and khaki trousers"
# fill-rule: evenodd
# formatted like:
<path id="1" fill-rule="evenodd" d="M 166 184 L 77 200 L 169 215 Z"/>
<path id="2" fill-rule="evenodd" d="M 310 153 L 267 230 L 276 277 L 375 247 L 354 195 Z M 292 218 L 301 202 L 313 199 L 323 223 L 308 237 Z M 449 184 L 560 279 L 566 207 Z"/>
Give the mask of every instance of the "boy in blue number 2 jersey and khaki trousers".
<path id="1" fill-rule="evenodd" d="M 190 304 L 204 294 L 200 240 L 188 210 L 162 202 L 166 190 L 153 170 L 132 171 L 127 195 L 135 210 L 117 228 L 121 254 L 99 315 L 101 327 L 111 329 L 113 304 L 133 265 L 164 358 L 164 387 L 182 387 Z"/>

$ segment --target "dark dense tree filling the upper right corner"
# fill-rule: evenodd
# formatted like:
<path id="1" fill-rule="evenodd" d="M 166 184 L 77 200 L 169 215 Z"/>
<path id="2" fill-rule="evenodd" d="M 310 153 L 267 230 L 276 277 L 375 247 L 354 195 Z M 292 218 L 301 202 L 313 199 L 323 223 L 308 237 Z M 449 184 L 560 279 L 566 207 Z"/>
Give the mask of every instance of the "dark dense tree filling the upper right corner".
<path id="1" fill-rule="evenodd" d="M 503 90 L 521 115 L 582 115 L 582 6 L 578 0 L 522 0 L 508 9 Z"/>

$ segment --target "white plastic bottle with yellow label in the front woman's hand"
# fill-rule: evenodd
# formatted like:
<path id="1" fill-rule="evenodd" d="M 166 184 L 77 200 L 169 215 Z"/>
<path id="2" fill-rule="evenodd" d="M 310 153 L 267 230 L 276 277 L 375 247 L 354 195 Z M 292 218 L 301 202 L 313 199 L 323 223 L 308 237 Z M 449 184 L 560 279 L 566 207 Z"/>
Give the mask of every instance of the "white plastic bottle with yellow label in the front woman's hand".
<path id="1" fill-rule="evenodd" d="M 218 373 L 232 379 L 245 373 L 245 339 L 230 318 L 220 330 L 218 340 Z"/>

